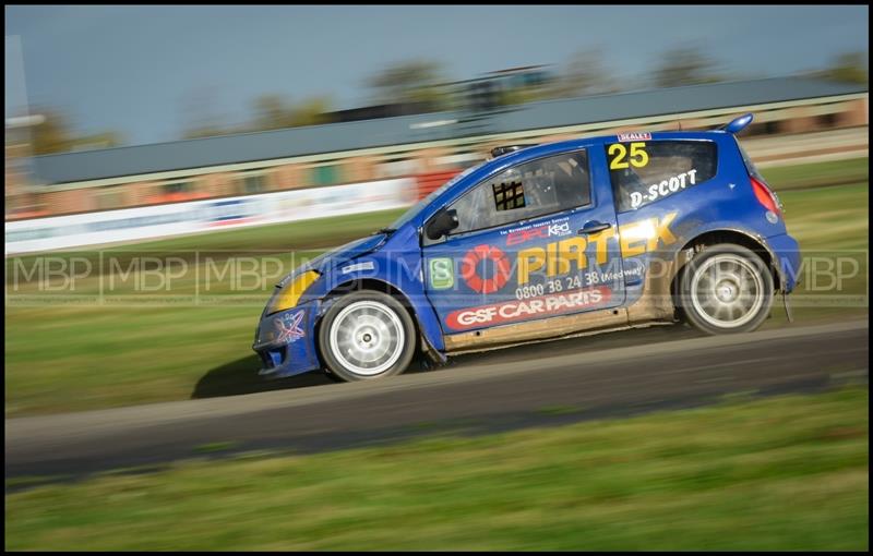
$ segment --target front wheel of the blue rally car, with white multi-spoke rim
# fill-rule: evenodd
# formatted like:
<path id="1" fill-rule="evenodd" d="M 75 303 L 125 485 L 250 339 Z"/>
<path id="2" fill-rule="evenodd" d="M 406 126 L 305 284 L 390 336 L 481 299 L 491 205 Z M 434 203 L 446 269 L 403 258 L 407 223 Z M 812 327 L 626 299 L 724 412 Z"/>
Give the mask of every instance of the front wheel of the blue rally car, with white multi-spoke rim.
<path id="1" fill-rule="evenodd" d="M 343 295 L 327 310 L 319 330 L 328 373 L 347 382 L 403 373 L 412 360 L 415 339 L 406 309 L 378 291 Z"/>

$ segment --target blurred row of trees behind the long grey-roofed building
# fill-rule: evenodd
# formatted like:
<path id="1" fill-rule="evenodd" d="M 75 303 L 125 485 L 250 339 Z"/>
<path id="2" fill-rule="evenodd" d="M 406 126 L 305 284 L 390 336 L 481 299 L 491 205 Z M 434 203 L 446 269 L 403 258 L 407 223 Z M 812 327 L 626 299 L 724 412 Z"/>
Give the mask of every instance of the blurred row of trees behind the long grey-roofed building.
<path id="1" fill-rule="evenodd" d="M 820 70 L 805 76 L 830 81 L 868 84 L 868 53 L 847 52 L 837 56 Z M 590 95 L 615 94 L 646 87 L 663 88 L 682 85 L 718 83 L 757 75 L 738 75 L 725 71 L 717 60 L 698 45 L 683 45 L 663 52 L 653 70 L 639 76 L 617 74 L 610 69 L 601 49 L 583 49 L 550 74 L 550 78 L 501 93 L 503 106 Z M 406 60 L 393 63 L 374 73 L 364 85 L 370 102 L 375 105 L 409 105 L 418 111 L 441 111 L 458 108 L 456 96 L 446 94 L 452 83 L 447 68 L 435 60 Z M 292 100 L 282 94 L 255 98 L 247 120 L 237 125 L 223 123 L 222 116 L 208 110 L 208 93 L 201 89 L 187 108 L 180 138 L 210 137 L 234 133 L 278 130 L 301 125 L 331 123 L 335 107 L 328 96 Z M 36 155 L 64 153 L 82 148 L 121 146 L 123 137 L 115 131 L 79 134 L 71 119 L 52 107 L 33 107 L 33 113 L 44 117 L 32 130 L 32 146 Z"/>

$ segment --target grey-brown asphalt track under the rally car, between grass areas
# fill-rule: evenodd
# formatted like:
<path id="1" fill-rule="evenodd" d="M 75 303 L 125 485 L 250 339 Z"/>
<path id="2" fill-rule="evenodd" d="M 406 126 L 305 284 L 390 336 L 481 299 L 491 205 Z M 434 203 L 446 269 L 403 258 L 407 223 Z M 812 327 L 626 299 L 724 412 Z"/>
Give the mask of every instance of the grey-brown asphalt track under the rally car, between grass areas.
<path id="1" fill-rule="evenodd" d="M 65 480 L 249 450 L 312 452 L 822 391 L 869 377 L 869 322 L 705 337 L 682 326 L 461 355 L 354 384 L 5 421 L 5 473 Z M 204 454 L 204 446 L 226 446 Z M 9 492 L 9 487 L 8 487 Z"/>

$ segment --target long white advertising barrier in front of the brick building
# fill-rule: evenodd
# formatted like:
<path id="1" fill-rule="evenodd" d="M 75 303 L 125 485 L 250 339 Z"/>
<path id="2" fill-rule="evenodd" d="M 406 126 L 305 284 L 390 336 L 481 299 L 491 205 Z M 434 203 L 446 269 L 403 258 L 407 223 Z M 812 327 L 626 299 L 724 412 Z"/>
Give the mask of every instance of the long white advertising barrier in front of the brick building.
<path id="1" fill-rule="evenodd" d="M 411 205 L 411 178 L 191 201 L 5 223 L 5 254 L 166 238 L 210 230 L 369 213 Z"/>

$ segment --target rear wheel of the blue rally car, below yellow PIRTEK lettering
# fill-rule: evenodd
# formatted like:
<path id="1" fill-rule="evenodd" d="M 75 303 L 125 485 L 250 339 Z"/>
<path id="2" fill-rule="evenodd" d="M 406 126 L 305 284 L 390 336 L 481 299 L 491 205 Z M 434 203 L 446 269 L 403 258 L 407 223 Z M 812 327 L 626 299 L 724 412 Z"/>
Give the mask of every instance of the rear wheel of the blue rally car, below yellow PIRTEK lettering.
<path id="1" fill-rule="evenodd" d="M 741 245 L 719 244 L 685 265 L 678 302 L 687 322 L 707 334 L 744 333 L 767 318 L 773 291 L 760 256 Z"/>

